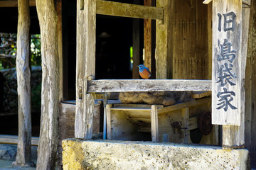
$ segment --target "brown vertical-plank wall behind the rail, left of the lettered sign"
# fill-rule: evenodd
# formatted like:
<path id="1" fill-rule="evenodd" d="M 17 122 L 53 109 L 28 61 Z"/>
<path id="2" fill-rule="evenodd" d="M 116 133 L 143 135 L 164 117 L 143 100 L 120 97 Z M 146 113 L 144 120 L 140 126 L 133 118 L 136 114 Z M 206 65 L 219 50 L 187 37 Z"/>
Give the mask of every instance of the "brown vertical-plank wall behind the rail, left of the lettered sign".
<path id="1" fill-rule="evenodd" d="M 202 1 L 174 1 L 171 18 L 173 79 L 208 77 L 208 6 Z M 211 62 L 211 61 L 210 61 Z"/>

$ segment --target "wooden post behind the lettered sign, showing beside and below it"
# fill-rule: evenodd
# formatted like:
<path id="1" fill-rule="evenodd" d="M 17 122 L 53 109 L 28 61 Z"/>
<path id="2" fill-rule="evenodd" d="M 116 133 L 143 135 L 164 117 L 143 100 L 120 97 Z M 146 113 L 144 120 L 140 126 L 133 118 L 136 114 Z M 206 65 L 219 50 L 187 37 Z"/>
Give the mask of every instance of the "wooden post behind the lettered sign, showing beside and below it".
<path id="1" fill-rule="evenodd" d="M 245 147 L 245 65 L 247 57 L 247 41 L 250 20 L 250 8 L 242 8 L 242 47 L 241 55 L 244 58 L 240 59 L 240 126 L 223 125 L 223 148 L 233 149 Z"/>

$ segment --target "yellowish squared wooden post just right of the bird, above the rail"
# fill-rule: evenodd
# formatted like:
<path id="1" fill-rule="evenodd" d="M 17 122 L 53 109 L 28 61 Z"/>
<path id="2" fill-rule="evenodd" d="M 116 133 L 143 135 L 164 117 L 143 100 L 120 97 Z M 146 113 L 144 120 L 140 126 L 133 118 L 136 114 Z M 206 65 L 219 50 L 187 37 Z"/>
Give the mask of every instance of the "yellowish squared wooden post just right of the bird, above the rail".
<path id="1" fill-rule="evenodd" d="M 164 8 L 164 21 L 156 21 L 156 79 L 172 79 L 171 13 L 174 1 L 156 0 L 156 6 Z"/>

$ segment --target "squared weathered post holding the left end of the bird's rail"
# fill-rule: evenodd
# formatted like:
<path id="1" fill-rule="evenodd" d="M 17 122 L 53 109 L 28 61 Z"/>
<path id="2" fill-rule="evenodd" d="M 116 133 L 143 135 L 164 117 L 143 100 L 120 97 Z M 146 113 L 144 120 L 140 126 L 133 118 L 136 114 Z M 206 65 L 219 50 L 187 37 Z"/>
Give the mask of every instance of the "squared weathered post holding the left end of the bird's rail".
<path id="1" fill-rule="evenodd" d="M 75 137 L 92 138 L 94 98 L 87 80 L 95 79 L 96 1 L 77 1 L 77 66 Z"/>

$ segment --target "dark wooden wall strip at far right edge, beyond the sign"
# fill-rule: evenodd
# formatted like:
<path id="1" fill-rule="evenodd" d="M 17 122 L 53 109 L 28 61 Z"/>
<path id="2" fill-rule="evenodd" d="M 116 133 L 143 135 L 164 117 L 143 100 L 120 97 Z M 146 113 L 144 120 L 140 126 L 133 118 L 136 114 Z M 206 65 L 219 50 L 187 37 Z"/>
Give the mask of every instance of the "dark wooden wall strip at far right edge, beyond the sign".
<path id="1" fill-rule="evenodd" d="M 245 147 L 256 150 L 256 2 L 251 1 L 249 40 L 245 69 Z"/>

